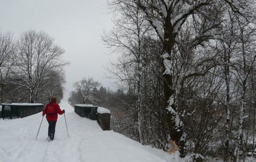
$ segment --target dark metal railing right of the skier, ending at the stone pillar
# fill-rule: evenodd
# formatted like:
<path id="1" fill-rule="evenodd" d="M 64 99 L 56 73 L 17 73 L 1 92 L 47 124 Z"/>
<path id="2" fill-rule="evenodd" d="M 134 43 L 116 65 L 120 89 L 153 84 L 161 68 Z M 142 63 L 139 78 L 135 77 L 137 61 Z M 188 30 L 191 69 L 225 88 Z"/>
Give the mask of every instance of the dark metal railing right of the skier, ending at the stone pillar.
<path id="1" fill-rule="evenodd" d="M 91 120 L 97 120 L 97 106 L 83 106 L 83 105 L 74 105 L 75 112 L 80 117 L 86 117 Z"/>

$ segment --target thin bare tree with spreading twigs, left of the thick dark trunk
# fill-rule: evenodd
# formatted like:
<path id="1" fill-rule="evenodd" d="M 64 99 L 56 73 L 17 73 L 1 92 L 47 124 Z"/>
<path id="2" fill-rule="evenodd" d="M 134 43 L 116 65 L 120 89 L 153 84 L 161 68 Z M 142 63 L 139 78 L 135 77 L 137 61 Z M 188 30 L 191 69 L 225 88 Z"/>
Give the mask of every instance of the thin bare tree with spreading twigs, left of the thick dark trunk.
<path id="1" fill-rule="evenodd" d="M 136 103 L 135 111 L 135 127 L 138 132 L 139 142 L 143 144 L 142 132 L 142 88 L 143 69 L 145 66 L 145 42 L 150 32 L 150 26 L 145 19 L 145 14 L 137 8 L 129 9 L 130 4 L 111 4 L 116 6 L 113 8 L 116 13 L 113 20 L 115 27 L 109 33 L 103 36 L 103 42 L 108 48 L 112 49 L 112 53 L 121 53 L 116 63 L 111 63 L 113 69 L 108 68 L 112 78 L 115 77 L 121 84 L 135 85 Z M 126 88 L 127 89 L 127 88 Z"/>

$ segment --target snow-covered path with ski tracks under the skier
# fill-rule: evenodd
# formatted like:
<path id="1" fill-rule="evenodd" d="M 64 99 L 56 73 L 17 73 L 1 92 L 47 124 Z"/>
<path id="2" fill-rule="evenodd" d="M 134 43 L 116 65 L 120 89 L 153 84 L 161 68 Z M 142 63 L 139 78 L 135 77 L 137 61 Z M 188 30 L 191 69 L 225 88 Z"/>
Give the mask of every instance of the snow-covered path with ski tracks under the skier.
<path id="1" fill-rule="evenodd" d="M 113 132 L 103 131 L 96 121 L 78 116 L 67 102 L 56 124 L 56 140 L 48 142 L 44 117 L 37 137 L 41 113 L 22 119 L 0 119 L 0 162 L 176 162 L 179 158 L 143 146 Z"/>

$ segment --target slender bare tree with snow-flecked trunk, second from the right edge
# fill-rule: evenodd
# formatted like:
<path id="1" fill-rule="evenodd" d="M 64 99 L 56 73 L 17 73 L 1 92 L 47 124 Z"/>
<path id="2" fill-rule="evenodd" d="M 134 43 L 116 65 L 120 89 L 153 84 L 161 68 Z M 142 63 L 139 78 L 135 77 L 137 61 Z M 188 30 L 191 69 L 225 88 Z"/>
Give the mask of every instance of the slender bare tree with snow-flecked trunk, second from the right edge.
<path id="1" fill-rule="evenodd" d="M 221 33 L 216 43 L 212 45 L 217 53 L 217 60 L 221 64 L 220 68 L 222 72 L 220 73 L 219 77 L 223 78 L 223 81 L 226 85 L 226 98 L 225 100 L 220 101 L 221 103 L 223 103 L 223 108 L 225 109 L 225 135 L 223 137 L 224 161 L 228 161 L 230 159 L 230 122 L 232 113 L 235 112 L 235 110 L 231 108 L 231 105 L 234 101 L 234 93 L 236 93 L 234 89 L 237 88 L 236 86 L 234 86 L 234 83 L 236 83 L 237 81 L 233 75 L 235 71 L 234 66 L 236 66 L 236 61 L 232 58 L 234 58 L 235 53 L 239 51 L 236 47 L 239 44 L 239 39 L 236 36 L 237 23 L 239 19 L 232 12 L 227 12 L 226 16 L 226 21 L 222 23 L 223 30 L 225 32 Z"/>

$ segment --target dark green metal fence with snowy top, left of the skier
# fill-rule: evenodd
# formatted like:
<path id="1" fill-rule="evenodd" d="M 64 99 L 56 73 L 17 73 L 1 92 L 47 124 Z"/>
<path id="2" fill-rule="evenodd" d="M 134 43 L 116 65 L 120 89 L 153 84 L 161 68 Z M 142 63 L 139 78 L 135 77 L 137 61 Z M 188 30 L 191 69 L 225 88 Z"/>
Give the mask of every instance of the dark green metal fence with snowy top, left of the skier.
<path id="1" fill-rule="evenodd" d="M 43 111 L 43 104 L 1 104 L 2 105 L 2 119 L 16 119 L 29 115 L 33 115 Z"/>

